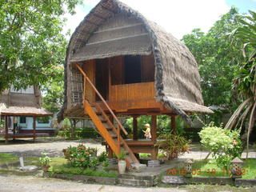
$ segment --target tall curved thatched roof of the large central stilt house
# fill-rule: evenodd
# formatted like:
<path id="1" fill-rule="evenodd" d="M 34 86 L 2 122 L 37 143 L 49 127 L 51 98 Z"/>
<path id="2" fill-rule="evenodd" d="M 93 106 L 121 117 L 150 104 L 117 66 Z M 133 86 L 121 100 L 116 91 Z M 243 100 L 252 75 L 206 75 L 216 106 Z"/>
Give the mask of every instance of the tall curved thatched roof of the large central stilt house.
<path id="1" fill-rule="evenodd" d="M 90 38 L 92 34 L 101 33 L 98 29 L 102 24 L 110 21 L 117 14 L 136 20 L 134 26 L 142 25 L 145 30 L 142 29 L 140 34 L 135 31 L 132 38 L 126 36 L 126 38 L 106 41 L 103 37 L 100 43 L 95 43 L 94 39 Z M 121 27 L 117 30 L 126 31 L 127 29 Z M 106 30 L 104 32 L 107 33 Z M 97 38 L 100 38 L 100 35 Z M 210 109 L 203 106 L 198 66 L 190 50 L 156 23 L 150 22 L 124 3 L 118 0 L 102 0 L 90 11 L 90 14 L 86 15 L 70 38 L 65 63 L 65 104 L 60 115 L 67 114 L 72 107 L 79 105 L 74 102 L 74 99 L 72 100 L 70 88 L 67 88 L 71 84 L 72 70 L 75 71 L 70 66 L 71 62 L 150 53 L 154 54 L 155 59 L 154 82 L 156 98 L 159 102 L 174 113 L 182 115 L 187 121 L 190 119 L 185 112 L 212 113 Z"/>

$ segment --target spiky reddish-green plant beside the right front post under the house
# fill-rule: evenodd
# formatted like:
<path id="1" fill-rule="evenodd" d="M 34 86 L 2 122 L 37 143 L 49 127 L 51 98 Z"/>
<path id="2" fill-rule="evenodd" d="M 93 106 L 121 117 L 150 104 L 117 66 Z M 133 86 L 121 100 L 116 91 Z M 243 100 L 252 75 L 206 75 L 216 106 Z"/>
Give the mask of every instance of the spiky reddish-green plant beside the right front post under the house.
<path id="1" fill-rule="evenodd" d="M 176 134 L 161 134 L 156 146 L 162 149 L 166 158 L 177 158 L 178 155 L 189 152 L 190 140 Z"/>

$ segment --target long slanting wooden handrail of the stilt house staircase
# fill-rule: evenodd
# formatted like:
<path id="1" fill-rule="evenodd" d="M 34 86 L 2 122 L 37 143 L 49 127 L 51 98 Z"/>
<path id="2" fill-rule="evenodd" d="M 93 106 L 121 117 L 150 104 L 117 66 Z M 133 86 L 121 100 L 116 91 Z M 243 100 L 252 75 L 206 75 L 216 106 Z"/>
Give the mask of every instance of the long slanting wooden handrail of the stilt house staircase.
<path id="1" fill-rule="evenodd" d="M 110 111 L 110 114 L 112 114 L 114 120 L 118 123 L 118 126 L 121 127 L 122 132 L 127 135 L 128 133 L 126 132 L 125 128 L 123 128 L 123 126 L 122 126 L 121 122 L 119 122 L 118 118 L 115 116 L 113 110 L 110 109 L 110 106 L 106 103 L 105 99 L 102 98 L 102 94 L 100 94 L 100 93 L 98 92 L 98 90 L 96 89 L 96 87 L 94 86 L 94 84 L 90 81 L 90 78 L 88 78 L 87 75 L 86 75 L 86 73 L 82 70 L 82 67 L 79 66 L 78 63 L 76 63 L 76 66 L 78 67 L 78 70 L 81 71 L 81 73 L 83 74 L 83 76 L 84 76 L 84 78 L 85 78 L 84 87 L 85 87 L 85 82 L 86 82 L 86 80 L 87 80 L 87 81 L 89 82 L 90 86 L 93 87 L 93 89 L 94 89 L 94 91 L 96 92 L 96 94 L 98 94 L 98 97 L 102 100 L 103 104 L 104 104 L 104 105 L 106 106 L 106 108 Z M 84 90 L 84 98 L 86 98 L 86 96 L 85 96 L 85 90 Z"/>

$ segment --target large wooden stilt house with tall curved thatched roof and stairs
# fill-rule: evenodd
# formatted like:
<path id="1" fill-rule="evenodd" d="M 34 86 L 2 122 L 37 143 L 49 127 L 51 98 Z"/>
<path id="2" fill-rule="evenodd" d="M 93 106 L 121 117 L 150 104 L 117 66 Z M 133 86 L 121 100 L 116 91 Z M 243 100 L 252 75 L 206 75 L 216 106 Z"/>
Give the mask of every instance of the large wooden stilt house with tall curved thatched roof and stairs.
<path id="1" fill-rule="evenodd" d="M 174 126 L 175 116 L 189 122 L 191 113 L 212 111 L 203 106 L 198 66 L 186 46 L 122 2 L 99 2 L 70 38 L 59 117 L 89 116 L 109 154 L 126 150 L 132 163 L 134 153 L 156 158 L 156 115 L 170 115 Z M 152 139 L 140 141 L 137 118 L 145 114 L 152 115 Z M 119 115 L 134 117 L 132 141 L 120 135 L 127 132 Z"/>

